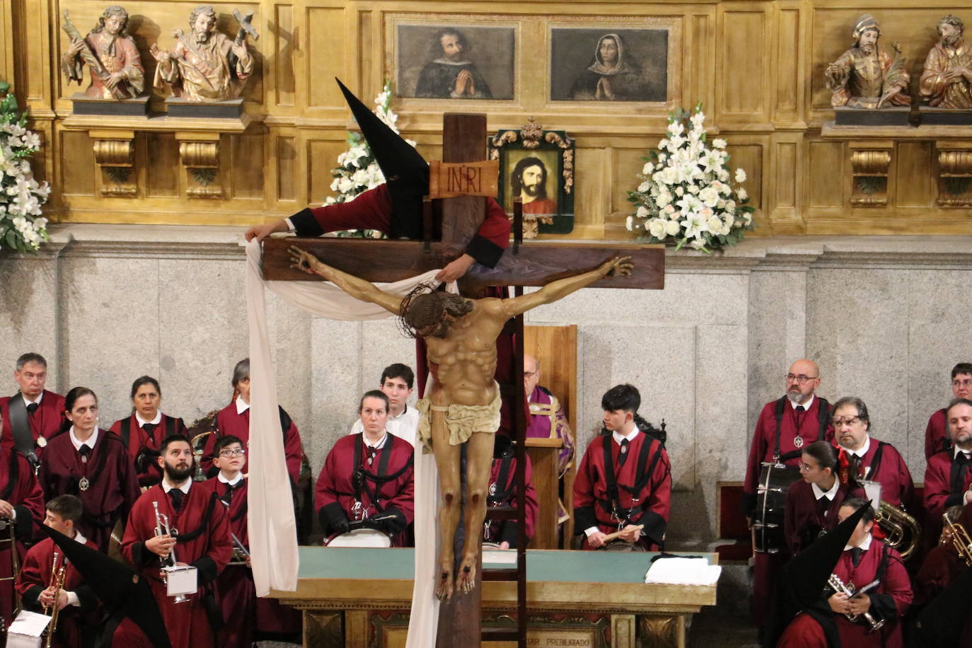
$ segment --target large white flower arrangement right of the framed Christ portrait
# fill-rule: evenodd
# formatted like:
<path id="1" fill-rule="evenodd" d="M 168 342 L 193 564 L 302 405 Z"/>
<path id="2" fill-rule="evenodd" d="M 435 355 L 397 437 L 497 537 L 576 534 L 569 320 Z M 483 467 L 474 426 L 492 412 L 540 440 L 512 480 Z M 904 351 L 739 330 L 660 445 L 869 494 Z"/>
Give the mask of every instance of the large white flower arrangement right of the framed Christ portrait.
<path id="1" fill-rule="evenodd" d="M 730 177 L 726 141 L 707 144 L 702 105 L 694 115 L 679 108 L 669 114 L 668 132 L 658 150 L 642 157 L 641 184 L 628 192 L 635 213 L 629 231 L 643 230 L 648 243 L 674 243 L 705 253 L 721 251 L 743 240 L 755 227 L 746 189 L 746 171 Z"/>

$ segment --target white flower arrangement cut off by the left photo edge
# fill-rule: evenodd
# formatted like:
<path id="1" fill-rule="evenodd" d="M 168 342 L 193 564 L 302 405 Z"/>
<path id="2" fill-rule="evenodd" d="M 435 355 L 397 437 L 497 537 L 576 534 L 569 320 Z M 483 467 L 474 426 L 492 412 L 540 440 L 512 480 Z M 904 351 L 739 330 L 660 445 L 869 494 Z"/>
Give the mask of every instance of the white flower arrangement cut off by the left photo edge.
<path id="1" fill-rule="evenodd" d="M 27 114 L 18 113 L 10 84 L 0 82 L 0 250 L 36 252 L 50 241 L 41 205 L 51 188 L 38 184 L 26 159 L 41 148 L 37 133 L 25 128 Z"/>

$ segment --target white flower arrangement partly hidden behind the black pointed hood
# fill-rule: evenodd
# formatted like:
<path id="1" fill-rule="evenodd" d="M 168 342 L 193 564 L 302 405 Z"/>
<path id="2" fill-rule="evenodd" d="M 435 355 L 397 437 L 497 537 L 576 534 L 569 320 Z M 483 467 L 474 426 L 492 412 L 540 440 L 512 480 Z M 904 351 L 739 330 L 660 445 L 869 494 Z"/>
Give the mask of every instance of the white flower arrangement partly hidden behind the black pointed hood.
<path id="1" fill-rule="evenodd" d="M 386 79 L 385 87 L 374 98 L 374 114 L 392 130 L 399 132 L 398 126 L 395 125 L 399 116 L 391 109 L 392 96 L 392 82 Z M 405 141 L 415 146 L 415 142 L 407 139 Z M 330 170 L 330 175 L 334 178 L 330 188 L 336 191 L 337 195 L 325 198 L 325 205 L 350 202 L 358 194 L 385 182 L 385 176 L 374 155 L 371 154 L 367 140 L 357 131 L 348 131 L 348 150 L 337 156 L 337 166 Z M 385 238 L 385 234 L 377 229 L 346 229 L 334 234 L 340 237 Z"/>

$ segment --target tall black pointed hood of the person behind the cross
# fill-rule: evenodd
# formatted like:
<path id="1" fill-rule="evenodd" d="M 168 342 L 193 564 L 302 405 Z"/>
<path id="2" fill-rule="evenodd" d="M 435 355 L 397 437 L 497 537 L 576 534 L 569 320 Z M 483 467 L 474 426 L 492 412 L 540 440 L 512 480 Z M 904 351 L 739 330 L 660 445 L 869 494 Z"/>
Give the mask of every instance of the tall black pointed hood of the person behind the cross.
<path id="1" fill-rule="evenodd" d="M 385 176 L 392 196 L 390 238 L 422 238 L 422 198 L 429 193 L 429 162 L 415 147 L 368 110 L 340 79 L 344 93 L 364 139 Z"/>

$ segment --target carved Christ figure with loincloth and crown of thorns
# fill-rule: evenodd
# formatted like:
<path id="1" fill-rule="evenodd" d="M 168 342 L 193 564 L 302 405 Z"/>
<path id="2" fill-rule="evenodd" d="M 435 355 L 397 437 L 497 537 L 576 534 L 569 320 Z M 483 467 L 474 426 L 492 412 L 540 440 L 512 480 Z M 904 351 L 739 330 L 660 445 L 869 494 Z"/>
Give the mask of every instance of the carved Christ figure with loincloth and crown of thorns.
<path id="1" fill-rule="evenodd" d="M 496 370 L 496 339 L 503 324 L 540 304 L 561 299 L 599 279 L 630 276 L 630 256 L 611 258 L 600 267 L 551 282 L 519 297 L 467 299 L 447 292 L 421 292 L 399 297 L 379 290 L 353 275 L 322 263 L 317 257 L 291 248 L 294 267 L 318 274 L 351 296 L 371 302 L 399 316 L 399 324 L 428 347 L 432 386 L 417 404 L 423 413 L 419 440 L 431 448 L 438 469 L 441 500 L 438 506 L 439 577 L 435 596 L 448 598 L 454 588 L 464 592 L 475 584 L 475 569 L 486 517 L 486 495 L 493 462 L 493 435 L 500 425 L 500 390 Z M 460 446 L 466 455 L 466 545 L 459 573 L 453 574 L 453 539 L 460 515 Z"/>

